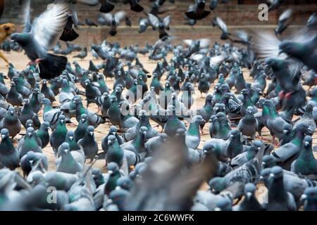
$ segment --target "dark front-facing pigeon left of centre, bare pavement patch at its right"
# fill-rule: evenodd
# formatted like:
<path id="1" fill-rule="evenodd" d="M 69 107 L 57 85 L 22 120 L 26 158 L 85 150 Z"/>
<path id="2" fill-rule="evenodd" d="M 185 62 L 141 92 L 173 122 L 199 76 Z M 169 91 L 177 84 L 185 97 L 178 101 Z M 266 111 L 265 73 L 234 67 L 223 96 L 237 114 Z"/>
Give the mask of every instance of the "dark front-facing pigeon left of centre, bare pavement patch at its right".
<path id="1" fill-rule="evenodd" d="M 90 163 L 94 160 L 94 156 L 98 153 L 98 144 L 94 139 L 94 127 L 87 127 L 85 136 L 78 141 L 78 145 L 85 153 L 85 158 L 90 159 Z"/>

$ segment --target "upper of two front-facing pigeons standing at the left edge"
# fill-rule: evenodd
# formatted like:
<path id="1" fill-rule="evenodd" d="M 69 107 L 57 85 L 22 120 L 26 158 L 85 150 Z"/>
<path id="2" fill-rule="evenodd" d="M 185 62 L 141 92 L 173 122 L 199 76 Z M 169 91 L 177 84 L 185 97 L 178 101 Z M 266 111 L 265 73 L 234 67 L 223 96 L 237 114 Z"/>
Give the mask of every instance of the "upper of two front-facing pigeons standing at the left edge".
<path id="1" fill-rule="evenodd" d="M 8 113 L 4 119 L 0 121 L 0 129 L 8 129 L 8 136 L 13 139 L 21 131 L 21 122 L 15 115 L 14 108 L 11 106 L 8 108 Z"/>

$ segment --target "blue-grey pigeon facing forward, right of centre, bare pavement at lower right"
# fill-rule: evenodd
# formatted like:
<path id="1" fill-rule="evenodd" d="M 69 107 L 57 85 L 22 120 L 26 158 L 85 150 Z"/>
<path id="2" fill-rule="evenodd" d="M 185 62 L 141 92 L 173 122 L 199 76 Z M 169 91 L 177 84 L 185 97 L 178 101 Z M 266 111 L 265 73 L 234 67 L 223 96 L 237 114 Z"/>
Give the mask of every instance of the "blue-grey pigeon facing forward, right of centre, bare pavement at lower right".
<path id="1" fill-rule="evenodd" d="M 244 117 L 238 124 L 238 129 L 245 136 L 251 136 L 251 139 L 255 139 L 256 131 L 258 130 L 259 124 L 254 117 L 253 107 L 249 106 L 245 112 Z"/>

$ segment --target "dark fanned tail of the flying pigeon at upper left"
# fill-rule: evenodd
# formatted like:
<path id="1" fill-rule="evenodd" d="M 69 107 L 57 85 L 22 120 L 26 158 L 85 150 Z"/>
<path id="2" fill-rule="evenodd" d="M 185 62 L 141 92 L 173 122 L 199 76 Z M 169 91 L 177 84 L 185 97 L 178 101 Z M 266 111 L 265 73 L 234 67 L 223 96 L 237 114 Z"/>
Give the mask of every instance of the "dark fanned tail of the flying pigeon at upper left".
<path id="1" fill-rule="evenodd" d="M 39 62 L 39 77 L 42 79 L 58 77 L 66 69 L 67 62 L 64 56 L 47 54 L 47 57 Z"/>

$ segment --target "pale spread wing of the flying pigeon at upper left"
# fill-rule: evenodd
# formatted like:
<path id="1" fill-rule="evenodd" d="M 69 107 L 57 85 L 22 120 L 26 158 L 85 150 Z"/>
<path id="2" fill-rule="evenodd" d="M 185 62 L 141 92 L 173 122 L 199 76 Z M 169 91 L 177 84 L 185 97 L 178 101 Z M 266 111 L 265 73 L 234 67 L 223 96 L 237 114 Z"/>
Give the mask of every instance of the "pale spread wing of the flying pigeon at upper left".
<path id="1" fill-rule="evenodd" d="M 32 24 L 31 32 L 37 43 L 44 49 L 51 49 L 60 37 L 70 14 L 70 4 L 66 2 L 56 1 L 55 4 L 49 4 L 46 11 Z"/>

